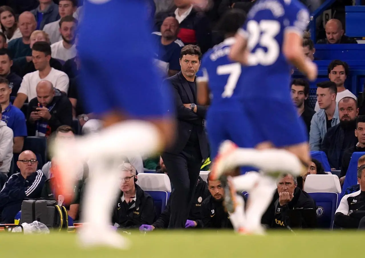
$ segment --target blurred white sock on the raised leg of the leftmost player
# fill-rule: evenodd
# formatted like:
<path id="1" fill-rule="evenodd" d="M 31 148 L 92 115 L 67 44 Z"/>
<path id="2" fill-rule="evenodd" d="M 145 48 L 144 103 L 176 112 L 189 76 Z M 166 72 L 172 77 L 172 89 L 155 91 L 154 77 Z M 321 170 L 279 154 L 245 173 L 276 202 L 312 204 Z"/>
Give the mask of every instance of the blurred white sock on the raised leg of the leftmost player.
<path id="1" fill-rule="evenodd" d="M 154 124 L 128 120 L 106 127 L 98 134 L 77 139 L 74 145 L 83 159 L 118 158 L 126 154 L 150 156 L 163 147 Z"/>

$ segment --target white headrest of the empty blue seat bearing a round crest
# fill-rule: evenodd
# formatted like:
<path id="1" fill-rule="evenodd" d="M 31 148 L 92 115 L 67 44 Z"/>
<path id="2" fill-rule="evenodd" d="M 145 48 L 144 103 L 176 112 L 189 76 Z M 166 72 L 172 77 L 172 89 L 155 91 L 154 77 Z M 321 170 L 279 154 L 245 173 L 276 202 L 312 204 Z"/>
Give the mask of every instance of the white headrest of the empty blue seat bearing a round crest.
<path id="1" fill-rule="evenodd" d="M 306 192 L 341 192 L 337 175 L 307 175 L 303 190 Z"/>

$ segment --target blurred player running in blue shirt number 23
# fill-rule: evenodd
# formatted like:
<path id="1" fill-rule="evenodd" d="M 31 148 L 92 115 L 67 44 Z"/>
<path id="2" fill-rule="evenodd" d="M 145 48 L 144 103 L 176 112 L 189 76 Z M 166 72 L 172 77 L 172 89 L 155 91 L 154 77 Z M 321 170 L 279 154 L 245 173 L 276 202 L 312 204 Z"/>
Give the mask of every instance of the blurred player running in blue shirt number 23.
<path id="1" fill-rule="evenodd" d="M 229 140 L 221 144 L 212 180 L 237 166 L 255 166 L 265 173 L 249 173 L 228 182 L 232 192 L 231 203 L 226 203 L 228 211 L 235 209 L 236 190 L 250 192 L 247 233 L 263 232 L 261 217 L 271 201 L 277 176 L 300 175 L 310 162 L 306 129 L 288 90 L 291 65 L 310 80 L 317 76 L 316 65 L 302 50 L 308 21 L 309 12 L 298 0 L 259 0 L 230 49 L 230 59 L 245 65 L 237 85 L 231 85 L 233 94 L 236 89 L 244 92 L 241 128 L 245 141 L 241 148 Z M 230 72 L 231 78 L 233 74 Z"/>

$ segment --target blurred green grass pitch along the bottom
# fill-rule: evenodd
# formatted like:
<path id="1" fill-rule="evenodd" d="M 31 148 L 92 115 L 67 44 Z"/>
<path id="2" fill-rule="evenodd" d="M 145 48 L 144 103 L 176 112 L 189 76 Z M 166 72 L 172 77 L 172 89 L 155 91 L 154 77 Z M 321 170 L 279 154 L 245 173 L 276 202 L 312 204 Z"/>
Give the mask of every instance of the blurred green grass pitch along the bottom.
<path id="1" fill-rule="evenodd" d="M 123 234 L 124 235 L 124 234 Z M 74 233 L 0 234 L 0 257 L 7 258 L 332 258 L 365 257 L 364 231 L 271 231 L 266 236 L 231 231 L 154 231 L 126 235 L 129 250 L 81 249 Z M 356 256 L 353 256 L 356 255 Z"/>

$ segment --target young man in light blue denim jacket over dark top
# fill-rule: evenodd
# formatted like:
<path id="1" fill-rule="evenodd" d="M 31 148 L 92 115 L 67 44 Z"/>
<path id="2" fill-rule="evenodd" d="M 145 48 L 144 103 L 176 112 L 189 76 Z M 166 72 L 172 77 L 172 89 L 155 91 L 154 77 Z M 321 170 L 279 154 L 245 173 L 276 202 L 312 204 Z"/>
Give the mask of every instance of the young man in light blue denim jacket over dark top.
<path id="1" fill-rule="evenodd" d="M 336 104 L 337 87 L 334 82 L 317 83 L 317 99 L 320 110 L 313 115 L 309 131 L 311 151 L 319 151 L 327 130 L 339 123 Z"/>

